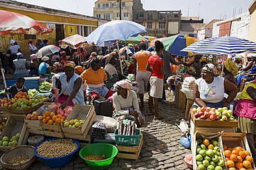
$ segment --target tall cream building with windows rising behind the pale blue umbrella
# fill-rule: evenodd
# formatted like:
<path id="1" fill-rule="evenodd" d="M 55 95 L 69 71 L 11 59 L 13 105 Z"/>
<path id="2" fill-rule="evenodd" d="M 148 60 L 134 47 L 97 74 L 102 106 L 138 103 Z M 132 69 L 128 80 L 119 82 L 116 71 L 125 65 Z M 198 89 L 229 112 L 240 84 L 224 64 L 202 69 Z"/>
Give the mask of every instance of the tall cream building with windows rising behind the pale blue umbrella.
<path id="1" fill-rule="evenodd" d="M 121 19 L 132 20 L 133 0 L 122 0 Z M 111 21 L 120 19 L 119 1 L 116 0 L 98 0 L 94 3 L 93 16 Z"/>

